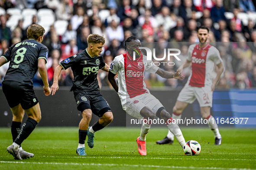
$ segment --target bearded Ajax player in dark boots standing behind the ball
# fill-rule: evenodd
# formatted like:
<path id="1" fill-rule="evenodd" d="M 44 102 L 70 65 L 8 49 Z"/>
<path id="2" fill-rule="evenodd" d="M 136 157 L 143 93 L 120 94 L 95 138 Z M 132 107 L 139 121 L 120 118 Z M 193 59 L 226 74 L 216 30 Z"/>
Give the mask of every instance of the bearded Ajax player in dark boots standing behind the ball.
<path id="1" fill-rule="evenodd" d="M 212 107 L 212 94 L 220 79 L 220 75 L 224 71 L 220 52 L 216 47 L 207 43 L 209 29 L 205 26 L 198 28 L 198 38 L 200 43 L 190 45 L 188 48 L 188 59 L 178 68 L 182 72 L 183 68 L 190 66 L 192 68 L 188 82 L 178 95 L 175 106 L 173 107 L 172 118 L 175 120 L 181 119 L 181 113 L 188 104 L 192 104 L 195 99 L 200 105 L 201 115 L 208 120 L 209 128 L 214 132 L 215 145 L 220 145 L 222 138 L 210 109 Z M 212 81 L 212 73 L 214 66 L 217 65 L 217 76 Z M 172 144 L 174 135 L 168 132 L 168 135 L 157 141 L 157 144 Z"/>

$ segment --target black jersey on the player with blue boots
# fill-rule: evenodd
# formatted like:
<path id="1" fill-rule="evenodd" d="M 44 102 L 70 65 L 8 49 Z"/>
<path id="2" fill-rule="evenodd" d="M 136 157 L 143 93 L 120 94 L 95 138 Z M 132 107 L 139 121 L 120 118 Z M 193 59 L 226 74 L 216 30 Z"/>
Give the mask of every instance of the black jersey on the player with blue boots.
<path id="1" fill-rule="evenodd" d="M 74 91 L 74 88 L 86 91 L 99 90 L 97 73 L 99 69 L 105 66 L 104 58 L 101 55 L 91 57 L 87 50 L 83 50 L 66 58 L 60 65 L 63 69 L 71 67 L 73 71 L 72 91 Z"/>

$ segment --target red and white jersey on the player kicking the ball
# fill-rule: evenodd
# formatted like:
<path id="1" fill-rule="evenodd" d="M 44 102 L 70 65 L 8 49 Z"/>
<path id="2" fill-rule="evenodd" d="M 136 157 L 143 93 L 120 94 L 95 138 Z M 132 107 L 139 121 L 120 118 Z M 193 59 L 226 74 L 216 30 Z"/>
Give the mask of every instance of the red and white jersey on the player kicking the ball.
<path id="1" fill-rule="evenodd" d="M 118 73 L 118 94 L 121 103 L 124 104 L 126 98 L 150 93 L 144 82 L 144 72 L 155 74 L 158 69 L 152 61 L 146 60 L 146 56 L 136 60 L 133 60 L 129 53 L 115 57 L 109 71 L 113 74 Z"/>

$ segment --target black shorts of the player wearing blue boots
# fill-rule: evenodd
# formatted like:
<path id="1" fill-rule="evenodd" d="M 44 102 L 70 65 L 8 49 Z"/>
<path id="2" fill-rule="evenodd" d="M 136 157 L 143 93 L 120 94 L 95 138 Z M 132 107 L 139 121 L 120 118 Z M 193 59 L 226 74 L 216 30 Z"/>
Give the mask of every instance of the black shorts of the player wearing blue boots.
<path id="1" fill-rule="evenodd" d="M 91 109 L 92 113 L 102 117 L 104 113 L 111 112 L 110 106 L 103 98 L 100 91 L 74 91 L 75 101 L 77 102 L 77 108 L 83 112 L 85 109 Z M 82 106 L 82 107 L 81 107 Z"/>

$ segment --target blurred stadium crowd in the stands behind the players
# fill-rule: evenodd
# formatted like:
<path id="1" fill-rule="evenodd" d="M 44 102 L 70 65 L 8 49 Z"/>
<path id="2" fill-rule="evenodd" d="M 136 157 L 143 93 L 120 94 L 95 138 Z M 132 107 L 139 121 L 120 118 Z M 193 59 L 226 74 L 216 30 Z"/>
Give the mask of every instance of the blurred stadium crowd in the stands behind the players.
<path id="1" fill-rule="evenodd" d="M 103 56 L 110 65 L 125 53 L 123 42 L 135 35 L 142 42 L 178 43 L 186 60 L 188 43 L 198 42 L 196 28 L 210 29 L 209 42 L 220 50 L 225 72 L 217 88 L 256 87 L 256 0 L 0 0 L 0 54 L 26 39 L 26 28 L 37 23 L 46 32 L 42 42 L 49 48 L 48 79 L 59 61 L 84 50 L 89 34 L 104 35 Z M 170 43 L 169 43 L 170 45 Z M 159 54 L 162 55 L 162 54 Z M 169 61 L 171 62 L 171 61 Z M 163 66 L 174 72 L 182 64 Z M 3 81 L 8 64 L 0 67 Z M 184 69 L 188 78 L 191 69 Z M 59 85 L 71 86 L 71 69 L 63 70 Z M 100 86 L 110 86 L 107 73 L 99 71 Z M 34 85 L 43 85 L 39 74 Z M 148 87 L 183 86 L 185 80 L 146 75 Z"/>

